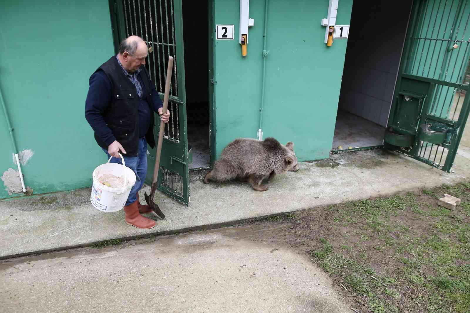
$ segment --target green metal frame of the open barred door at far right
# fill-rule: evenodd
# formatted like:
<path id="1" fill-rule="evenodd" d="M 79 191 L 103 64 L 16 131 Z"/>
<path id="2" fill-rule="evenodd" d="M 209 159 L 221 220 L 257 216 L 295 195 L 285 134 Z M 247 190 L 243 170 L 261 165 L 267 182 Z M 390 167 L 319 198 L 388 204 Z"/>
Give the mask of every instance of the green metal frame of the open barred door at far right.
<path id="1" fill-rule="evenodd" d="M 455 155 L 456 155 L 458 146 L 460 144 L 460 140 L 462 138 L 463 128 L 465 127 L 465 123 L 467 122 L 467 119 L 468 119 L 469 106 L 470 106 L 470 92 L 468 92 L 469 91 L 469 86 L 468 85 L 456 84 L 456 83 L 446 82 L 444 80 L 421 77 L 421 76 L 415 76 L 415 75 L 410 75 L 410 74 L 405 73 L 406 67 L 408 67 L 409 64 L 410 64 L 409 62 L 407 62 L 407 60 L 413 59 L 413 55 L 415 55 L 415 51 L 416 51 L 417 42 L 413 41 L 411 39 L 411 37 L 414 36 L 416 31 L 418 31 L 421 27 L 424 26 L 423 25 L 423 16 L 418 15 L 420 5 L 423 3 L 423 1 L 425 1 L 425 0 L 414 1 L 414 3 L 413 3 L 413 8 L 412 8 L 412 11 L 411 11 L 412 13 L 410 15 L 410 23 L 408 24 L 407 35 L 406 35 L 405 45 L 404 45 L 404 49 L 403 49 L 404 53 L 403 53 L 401 61 L 400 61 L 399 75 L 398 75 L 398 78 L 397 78 L 397 83 L 396 83 L 394 95 L 393 95 L 393 98 L 392 98 L 393 99 L 392 100 L 392 107 L 391 107 L 390 117 L 389 117 L 389 121 L 388 121 L 387 126 L 393 128 L 395 125 L 397 125 L 397 122 L 399 122 L 399 121 L 396 120 L 398 118 L 397 117 L 397 106 L 399 104 L 399 94 L 400 94 L 401 86 L 402 86 L 402 83 L 403 83 L 403 79 L 408 79 L 408 80 L 412 79 L 412 80 L 415 80 L 415 81 L 421 81 L 421 82 L 429 83 L 429 91 L 427 93 L 427 95 L 428 95 L 427 98 L 428 99 L 424 100 L 424 103 L 421 107 L 421 112 L 419 114 L 418 123 L 417 123 L 418 125 L 416 127 L 416 131 L 413 132 L 413 133 L 408 131 L 410 133 L 410 135 L 416 135 L 416 139 L 415 139 L 415 143 L 414 143 L 413 147 L 406 149 L 406 148 L 403 148 L 403 147 L 397 147 L 397 146 L 389 145 L 387 143 L 385 143 L 384 146 L 387 149 L 395 150 L 399 153 L 403 153 L 403 154 L 405 154 L 405 155 L 407 155 L 407 156 L 409 156 L 409 157 L 411 157 L 415 160 L 419 160 L 419 161 L 422 161 L 422 162 L 424 162 L 428 165 L 431 165 L 432 167 L 440 168 L 443 171 L 450 172 L 450 170 L 452 168 L 452 165 L 454 163 L 454 160 L 455 160 Z M 462 3 L 460 3 L 460 4 L 462 4 Z M 458 8 L 458 10 L 456 12 L 456 16 L 460 14 L 459 12 L 461 12 L 461 9 L 462 9 L 462 5 L 460 5 L 460 8 Z M 454 18 L 453 23 L 456 23 L 456 18 Z M 445 54 L 444 58 L 447 58 L 447 57 L 448 57 L 448 53 Z M 443 63 L 443 64 L 445 64 L 445 63 Z M 462 110 L 460 112 L 458 121 L 447 120 L 447 119 L 441 118 L 439 116 L 431 115 L 431 114 L 428 113 L 429 109 L 432 105 L 432 96 L 434 94 L 434 91 L 435 91 L 437 85 L 454 87 L 454 88 L 458 88 L 458 89 L 462 89 L 462 90 L 467 91 L 465 99 L 463 100 L 463 103 L 462 103 Z M 419 133 L 418 129 L 419 129 L 419 125 L 424 120 L 433 120 L 433 121 L 439 122 L 440 125 L 444 124 L 445 127 L 449 130 L 448 132 L 449 132 L 450 136 L 448 135 L 448 138 L 450 139 L 450 144 L 446 144 L 446 143 L 441 144 L 442 147 L 445 147 L 445 148 L 448 149 L 444 165 L 437 164 L 434 161 L 431 161 L 430 159 L 423 158 L 418 154 L 419 144 L 420 144 L 420 139 L 419 139 L 419 136 L 418 136 L 418 133 Z M 431 149 L 432 149 L 432 146 L 431 146 Z M 431 153 L 431 150 L 430 150 L 430 153 Z"/>

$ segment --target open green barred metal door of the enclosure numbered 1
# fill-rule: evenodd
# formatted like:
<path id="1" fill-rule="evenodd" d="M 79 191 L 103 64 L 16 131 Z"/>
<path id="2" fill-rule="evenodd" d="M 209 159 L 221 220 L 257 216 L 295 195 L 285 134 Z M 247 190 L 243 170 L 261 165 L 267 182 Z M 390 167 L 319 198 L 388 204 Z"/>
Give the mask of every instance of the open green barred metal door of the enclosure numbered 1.
<path id="1" fill-rule="evenodd" d="M 415 0 L 385 147 L 449 172 L 470 106 L 470 0 Z"/>

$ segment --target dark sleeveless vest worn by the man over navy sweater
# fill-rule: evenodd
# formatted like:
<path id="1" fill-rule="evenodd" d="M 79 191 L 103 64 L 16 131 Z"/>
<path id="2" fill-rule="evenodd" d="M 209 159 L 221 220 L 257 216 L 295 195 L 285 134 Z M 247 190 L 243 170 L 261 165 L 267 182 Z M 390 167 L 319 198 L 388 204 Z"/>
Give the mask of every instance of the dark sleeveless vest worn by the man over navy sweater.
<path id="1" fill-rule="evenodd" d="M 110 106 L 103 114 L 104 121 L 112 131 L 116 140 L 123 146 L 127 156 L 136 156 L 139 148 L 139 94 L 134 84 L 122 72 L 116 55 L 103 63 L 96 71 L 102 69 L 111 82 L 112 100 Z M 95 71 L 95 73 L 96 73 Z M 152 103 L 150 93 L 150 78 L 145 66 L 139 73 L 141 81 L 145 87 L 145 94 L 142 99 L 147 100 L 147 104 Z M 155 137 L 153 136 L 153 127 L 155 124 L 153 107 L 150 108 L 150 126 L 145 138 L 147 143 L 155 147 Z M 108 150 L 108 145 L 102 141 L 95 133 L 94 138 L 98 145 Z"/>

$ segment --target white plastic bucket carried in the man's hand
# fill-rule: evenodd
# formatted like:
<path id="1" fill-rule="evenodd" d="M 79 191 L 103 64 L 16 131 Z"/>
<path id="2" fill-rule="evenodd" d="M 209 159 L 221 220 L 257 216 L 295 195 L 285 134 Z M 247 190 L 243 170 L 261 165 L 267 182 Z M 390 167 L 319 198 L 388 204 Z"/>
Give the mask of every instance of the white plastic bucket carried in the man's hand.
<path id="1" fill-rule="evenodd" d="M 125 202 L 135 184 L 135 173 L 125 166 L 123 156 L 119 153 L 122 165 L 118 163 L 102 164 L 93 171 L 93 187 L 91 189 L 91 204 L 102 212 L 117 212 L 125 206 Z M 124 183 L 115 183 L 118 188 L 108 187 L 102 184 L 99 179 L 103 175 L 110 174 L 117 177 L 124 176 Z"/>

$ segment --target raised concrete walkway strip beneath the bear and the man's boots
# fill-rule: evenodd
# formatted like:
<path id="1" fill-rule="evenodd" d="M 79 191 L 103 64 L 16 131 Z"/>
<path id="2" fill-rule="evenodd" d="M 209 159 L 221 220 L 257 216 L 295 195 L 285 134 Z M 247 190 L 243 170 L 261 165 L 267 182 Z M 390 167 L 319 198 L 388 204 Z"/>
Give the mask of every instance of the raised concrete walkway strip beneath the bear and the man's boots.
<path id="1" fill-rule="evenodd" d="M 314 206 L 390 195 L 398 191 L 456 183 L 470 175 L 470 152 L 462 149 L 454 173 L 445 173 L 405 156 L 383 151 L 343 153 L 329 160 L 301 163 L 296 173 L 279 175 L 265 192 L 246 183 L 204 185 L 204 173 L 191 174 L 189 207 L 157 193 L 166 214 L 157 227 L 128 226 L 124 211 L 102 213 L 89 201 L 90 189 L 43 197 L 0 201 L 0 258 L 87 245 L 114 238 L 148 236 L 208 227 Z M 143 192 L 149 191 L 146 186 Z M 153 213 L 152 213 L 153 214 Z"/>

